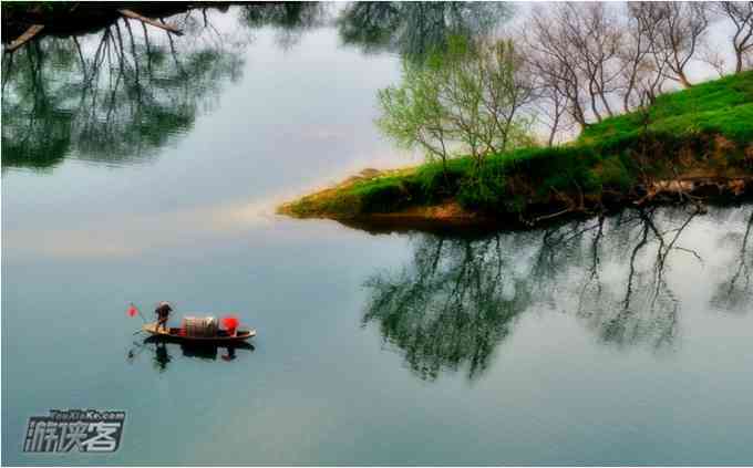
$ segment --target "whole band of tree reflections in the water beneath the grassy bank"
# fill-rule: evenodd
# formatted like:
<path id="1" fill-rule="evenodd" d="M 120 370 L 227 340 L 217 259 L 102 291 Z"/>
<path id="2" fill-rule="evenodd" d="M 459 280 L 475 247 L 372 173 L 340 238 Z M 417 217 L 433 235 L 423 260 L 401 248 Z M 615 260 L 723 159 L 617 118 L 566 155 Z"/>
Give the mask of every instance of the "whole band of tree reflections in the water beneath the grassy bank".
<path id="1" fill-rule="evenodd" d="M 729 226 L 714 233 L 734 252 L 734 264 L 723 270 L 731 275 L 708 275 L 719 281 L 712 301 L 742 310 L 753 292 L 753 207 L 714 212 L 715 222 Z M 651 208 L 475 239 L 419 235 L 409 266 L 365 282 L 363 323 L 378 324 L 426 379 L 458 370 L 478 377 L 516 319 L 534 310 L 571 314 L 608 345 L 671 349 L 682 311 L 671 283 L 687 281 L 671 267 L 705 264 L 683 245 L 698 236 L 699 219 L 709 217 Z"/>

